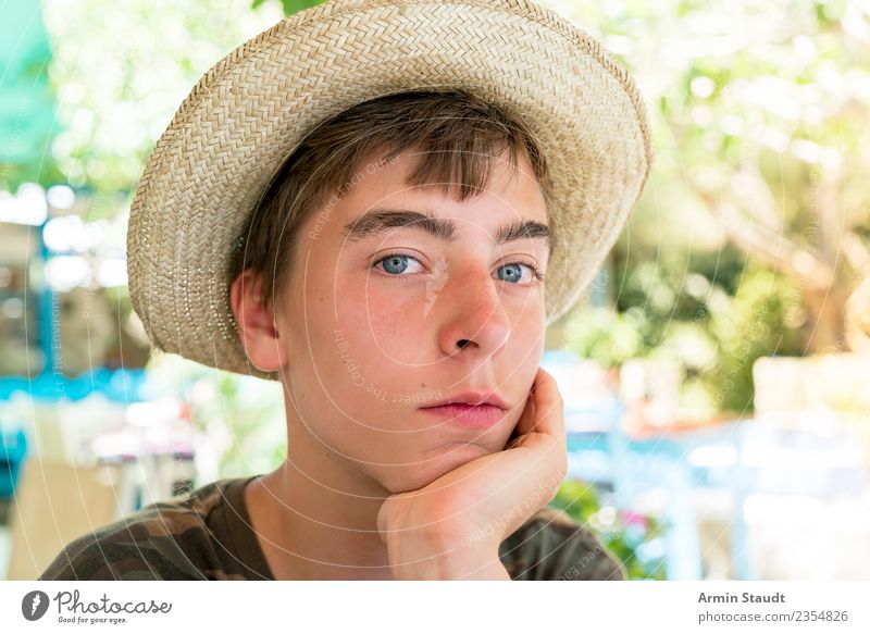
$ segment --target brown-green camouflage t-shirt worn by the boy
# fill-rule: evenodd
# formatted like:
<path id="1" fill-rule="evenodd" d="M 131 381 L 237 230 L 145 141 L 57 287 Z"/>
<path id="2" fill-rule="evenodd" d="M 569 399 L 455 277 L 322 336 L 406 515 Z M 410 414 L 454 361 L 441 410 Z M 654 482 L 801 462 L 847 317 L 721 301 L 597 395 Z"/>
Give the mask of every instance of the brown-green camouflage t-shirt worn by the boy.
<path id="1" fill-rule="evenodd" d="M 253 477 L 224 478 L 78 537 L 40 581 L 273 580 L 245 504 Z M 514 581 L 626 579 L 588 529 L 546 507 L 501 543 Z"/>

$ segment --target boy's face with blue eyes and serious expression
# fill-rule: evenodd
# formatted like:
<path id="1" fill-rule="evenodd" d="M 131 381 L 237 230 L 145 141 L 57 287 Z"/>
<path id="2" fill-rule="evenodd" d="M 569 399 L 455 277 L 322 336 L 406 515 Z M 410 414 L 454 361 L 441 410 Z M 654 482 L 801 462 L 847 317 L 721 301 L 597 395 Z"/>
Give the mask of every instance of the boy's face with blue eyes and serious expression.
<path id="1" fill-rule="evenodd" d="M 300 227 L 289 287 L 276 289 L 272 341 L 286 363 L 288 417 L 391 493 L 501 450 L 544 347 L 544 285 L 530 265 L 546 271 L 548 244 L 524 235 L 527 226 L 496 241 L 522 221 L 546 232 L 527 159 L 513 177 L 496 159 L 486 191 L 461 203 L 406 185 L 415 160 L 409 150 L 364 162 L 347 196 Z M 455 236 L 401 216 L 347 228 L 376 209 L 426 213 L 452 223 Z M 421 409 L 468 389 L 493 391 L 508 409 L 475 426 Z M 295 433 L 291 423 L 290 443 Z"/>

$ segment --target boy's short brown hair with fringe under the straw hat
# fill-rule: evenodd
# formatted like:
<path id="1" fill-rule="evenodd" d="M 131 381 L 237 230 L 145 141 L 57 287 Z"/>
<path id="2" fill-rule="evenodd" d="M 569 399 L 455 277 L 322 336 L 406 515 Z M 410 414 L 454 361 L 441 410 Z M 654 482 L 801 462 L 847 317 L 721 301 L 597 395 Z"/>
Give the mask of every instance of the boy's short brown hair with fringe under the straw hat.
<path id="1" fill-rule="evenodd" d="M 549 201 L 545 157 L 520 116 L 461 89 L 377 97 L 318 125 L 287 158 L 235 243 L 227 293 L 251 268 L 262 277 L 261 301 L 269 306 L 274 289 L 289 275 L 298 228 L 308 215 L 325 204 L 327 195 L 345 196 L 355 170 L 375 150 L 384 152 L 383 163 L 410 147 L 423 153 L 408 185 L 436 185 L 446 195 L 455 190 L 456 199 L 463 201 L 484 192 L 493 157 L 508 150 L 515 172 L 520 151 Z M 288 246 L 282 251 L 285 231 Z M 273 274 L 265 275 L 269 271 Z"/>

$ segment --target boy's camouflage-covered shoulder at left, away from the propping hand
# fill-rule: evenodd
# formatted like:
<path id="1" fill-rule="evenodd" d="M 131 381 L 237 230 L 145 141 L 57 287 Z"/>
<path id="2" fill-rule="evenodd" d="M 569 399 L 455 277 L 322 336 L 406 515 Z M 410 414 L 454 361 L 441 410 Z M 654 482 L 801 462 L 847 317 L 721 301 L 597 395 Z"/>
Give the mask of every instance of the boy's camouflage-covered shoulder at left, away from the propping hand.
<path id="1" fill-rule="evenodd" d="M 156 502 L 70 542 L 40 581 L 199 580 L 220 575 L 209 530 L 232 482 Z"/>

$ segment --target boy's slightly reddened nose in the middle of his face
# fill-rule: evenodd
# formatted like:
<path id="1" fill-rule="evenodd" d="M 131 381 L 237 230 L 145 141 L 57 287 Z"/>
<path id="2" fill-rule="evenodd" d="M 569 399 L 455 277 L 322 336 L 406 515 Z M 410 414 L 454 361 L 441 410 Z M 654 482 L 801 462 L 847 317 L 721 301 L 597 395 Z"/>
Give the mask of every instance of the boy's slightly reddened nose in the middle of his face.
<path id="1" fill-rule="evenodd" d="M 438 302 L 444 322 L 438 344 L 447 356 L 489 357 L 510 336 L 510 320 L 501 304 L 498 282 L 482 266 L 450 272 Z"/>

